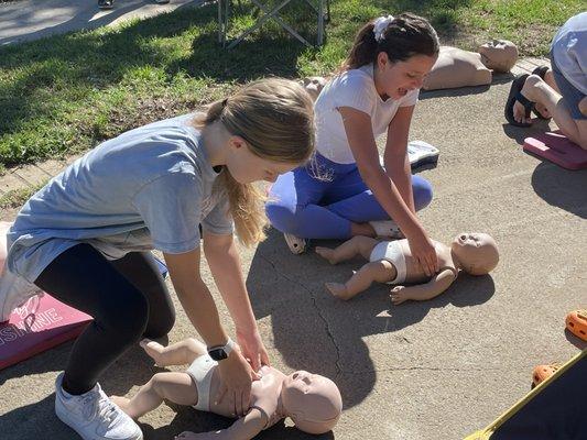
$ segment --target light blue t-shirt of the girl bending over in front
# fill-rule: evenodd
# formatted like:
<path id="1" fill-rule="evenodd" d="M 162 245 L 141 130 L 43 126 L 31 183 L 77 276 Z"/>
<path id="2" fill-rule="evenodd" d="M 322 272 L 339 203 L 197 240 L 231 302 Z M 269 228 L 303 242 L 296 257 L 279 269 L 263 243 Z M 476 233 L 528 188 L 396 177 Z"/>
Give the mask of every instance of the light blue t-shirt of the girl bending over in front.
<path id="1" fill-rule="evenodd" d="M 107 258 L 199 245 L 198 226 L 232 232 L 194 114 L 109 140 L 55 176 L 24 205 L 8 234 L 7 268 L 33 283 L 62 252 L 90 243 Z"/>

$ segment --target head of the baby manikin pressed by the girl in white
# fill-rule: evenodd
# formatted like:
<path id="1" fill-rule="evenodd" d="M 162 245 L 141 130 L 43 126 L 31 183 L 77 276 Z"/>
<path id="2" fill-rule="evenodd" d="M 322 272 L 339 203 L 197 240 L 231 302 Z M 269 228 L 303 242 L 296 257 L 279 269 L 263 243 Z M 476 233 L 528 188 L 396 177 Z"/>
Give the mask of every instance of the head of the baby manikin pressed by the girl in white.
<path id="1" fill-rule="evenodd" d="M 471 275 L 486 275 L 499 262 L 498 245 L 493 238 L 481 232 L 463 232 L 450 245 L 460 267 Z"/>

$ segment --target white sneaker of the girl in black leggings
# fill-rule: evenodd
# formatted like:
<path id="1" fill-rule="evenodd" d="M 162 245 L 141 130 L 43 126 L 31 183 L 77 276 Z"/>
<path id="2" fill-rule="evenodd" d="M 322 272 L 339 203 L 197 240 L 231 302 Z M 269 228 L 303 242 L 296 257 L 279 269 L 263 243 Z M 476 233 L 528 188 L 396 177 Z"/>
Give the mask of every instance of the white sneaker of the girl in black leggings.
<path id="1" fill-rule="evenodd" d="M 66 395 L 55 381 L 55 414 L 84 440 L 142 440 L 141 428 L 102 392 L 99 384 L 79 396 Z"/>

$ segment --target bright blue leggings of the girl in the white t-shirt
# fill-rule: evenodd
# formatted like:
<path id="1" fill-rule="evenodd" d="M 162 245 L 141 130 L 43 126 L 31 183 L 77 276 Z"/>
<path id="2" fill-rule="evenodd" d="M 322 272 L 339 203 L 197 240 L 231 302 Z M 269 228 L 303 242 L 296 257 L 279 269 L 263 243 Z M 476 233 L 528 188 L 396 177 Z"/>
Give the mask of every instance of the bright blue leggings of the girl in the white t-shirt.
<path id="1" fill-rule="evenodd" d="M 319 170 L 316 178 L 313 169 Z M 412 176 L 415 209 L 432 201 L 431 184 Z M 357 164 L 337 164 L 316 154 L 313 166 L 302 166 L 278 178 L 265 212 L 281 232 L 304 239 L 349 239 L 350 224 L 389 220 L 389 215 L 359 174 Z"/>

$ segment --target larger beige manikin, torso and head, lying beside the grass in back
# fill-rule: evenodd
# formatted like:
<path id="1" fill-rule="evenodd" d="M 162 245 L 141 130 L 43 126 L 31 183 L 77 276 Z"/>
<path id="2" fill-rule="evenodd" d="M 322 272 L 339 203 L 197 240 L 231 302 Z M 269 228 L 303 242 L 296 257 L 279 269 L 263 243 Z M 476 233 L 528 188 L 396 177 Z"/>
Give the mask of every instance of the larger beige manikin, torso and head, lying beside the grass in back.
<path id="1" fill-rule="evenodd" d="M 436 64 L 424 78 L 423 89 L 453 89 L 491 84 L 492 73 L 508 73 L 518 61 L 518 47 L 507 40 L 492 40 L 478 52 L 441 46 Z"/>

